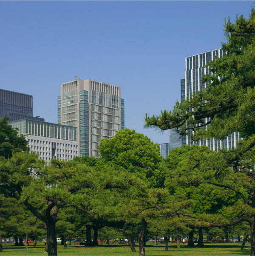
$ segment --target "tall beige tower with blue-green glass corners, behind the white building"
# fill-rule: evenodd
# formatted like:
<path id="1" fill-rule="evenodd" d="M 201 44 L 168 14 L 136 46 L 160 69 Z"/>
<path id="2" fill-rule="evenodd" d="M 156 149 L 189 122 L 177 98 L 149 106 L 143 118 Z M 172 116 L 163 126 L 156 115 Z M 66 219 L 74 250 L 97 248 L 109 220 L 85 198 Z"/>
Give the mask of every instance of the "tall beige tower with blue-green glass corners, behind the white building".
<path id="1" fill-rule="evenodd" d="M 98 157 L 100 140 L 125 128 L 120 87 L 79 78 L 61 83 L 58 124 L 77 127 L 80 156 Z"/>

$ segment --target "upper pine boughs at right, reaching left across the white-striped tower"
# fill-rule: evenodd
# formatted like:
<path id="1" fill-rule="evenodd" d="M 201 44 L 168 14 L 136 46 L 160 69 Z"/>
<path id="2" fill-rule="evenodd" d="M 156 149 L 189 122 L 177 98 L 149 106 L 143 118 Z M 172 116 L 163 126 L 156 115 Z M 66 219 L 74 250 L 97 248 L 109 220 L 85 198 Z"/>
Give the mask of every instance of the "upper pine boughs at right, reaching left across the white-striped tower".
<path id="1" fill-rule="evenodd" d="M 177 102 L 173 111 L 146 116 L 146 127 L 176 128 L 180 134 L 193 130 L 194 140 L 222 139 L 232 132 L 248 138 L 255 133 L 255 10 L 252 9 L 248 20 L 241 16 L 235 23 L 227 21 L 225 33 L 227 43 L 222 46 L 227 54 L 211 61 L 209 68 L 213 74 L 203 78 L 210 85 L 190 100 Z M 206 123 L 205 118 L 210 121 Z"/>

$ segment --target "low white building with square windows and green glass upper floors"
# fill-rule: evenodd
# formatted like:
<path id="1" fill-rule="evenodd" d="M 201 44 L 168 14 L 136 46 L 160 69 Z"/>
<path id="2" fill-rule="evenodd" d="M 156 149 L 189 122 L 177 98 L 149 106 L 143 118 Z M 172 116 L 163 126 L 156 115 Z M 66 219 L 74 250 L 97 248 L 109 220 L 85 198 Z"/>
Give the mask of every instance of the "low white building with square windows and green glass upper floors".
<path id="1" fill-rule="evenodd" d="M 19 129 L 19 135 L 25 135 L 30 152 L 36 152 L 47 163 L 51 159 L 69 161 L 79 156 L 76 127 L 31 119 L 11 121 L 9 124 Z"/>

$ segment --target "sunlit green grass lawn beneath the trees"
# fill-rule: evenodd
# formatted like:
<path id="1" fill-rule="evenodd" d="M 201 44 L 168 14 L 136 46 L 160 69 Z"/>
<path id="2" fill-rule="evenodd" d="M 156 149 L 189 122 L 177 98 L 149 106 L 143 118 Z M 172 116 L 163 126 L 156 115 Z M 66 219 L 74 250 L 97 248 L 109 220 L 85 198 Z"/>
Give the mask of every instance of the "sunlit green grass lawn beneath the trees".
<path id="1" fill-rule="evenodd" d="M 139 255 L 139 246 L 136 243 L 136 253 L 132 253 L 128 245 L 100 245 L 98 247 L 85 247 L 83 245 L 68 245 L 64 248 L 62 245 L 58 245 L 57 254 L 58 256 L 136 256 Z M 241 250 L 241 243 L 213 243 L 205 244 L 204 247 L 193 247 L 188 248 L 186 245 L 181 244 L 181 248 L 177 248 L 176 244 L 169 244 L 168 251 L 164 250 L 164 245 L 155 245 L 154 243 L 147 243 L 145 247 L 145 253 L 149 255 L 171 255 L 171 256 L 222 256 L 222 255 L 249 255 L 250 244 L 246 244 L 244 250 Z M 248 249 L 248 250 L 247 250 Z M 36 247 L 32 245 L 28 246 L 28 251 L 25 247 L 16 247 L 12 244 L 3 245 L 3 252 L 0 255 L 6 256 L 48 256 L 48 253 L 44 253 L 44 243 L 38 242 Z"/>

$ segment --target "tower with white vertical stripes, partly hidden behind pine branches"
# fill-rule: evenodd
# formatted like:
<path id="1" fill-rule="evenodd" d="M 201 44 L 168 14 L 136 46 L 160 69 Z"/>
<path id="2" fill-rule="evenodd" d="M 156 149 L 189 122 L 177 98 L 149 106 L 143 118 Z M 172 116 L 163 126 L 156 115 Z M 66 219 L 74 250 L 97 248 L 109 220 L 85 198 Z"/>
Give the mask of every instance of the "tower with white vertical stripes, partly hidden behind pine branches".
<path id="1" fill-rule="evenodd" d="M 225 52 L 222 49 L 216 49 L 210 52 L 204 52 L 185 58 L 186 70 L 185 78 L 181 79 L 181 102 L 185 99 L 192 98 L 192 95 L 199 91 L 203 91 L 209 85 L 209 82 L 202 83 L 203 76 L 209 73 L 209 67 L 205 67 L 205 65 L 207 65 L 211 60 L 214 60 L 216 57 L 222 58 L 224 54 Z M 207 118 L 206 121 L 209 121 L 209 119 Z M 181 138 L 182 144 L 195 144 L 200 146 L 206 145 L 210 150 L 215 151 L 217 151 L 219 148 L 230 149 L 236 147 L 236 143 L 240 139 L 241 138 L 238 132 L 228 135 L 224 140 L 209 138 L 200 141 L 192 141 L 190 135 L 182 136 Z"/>

